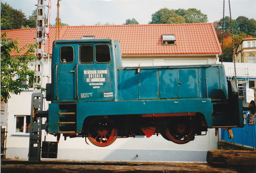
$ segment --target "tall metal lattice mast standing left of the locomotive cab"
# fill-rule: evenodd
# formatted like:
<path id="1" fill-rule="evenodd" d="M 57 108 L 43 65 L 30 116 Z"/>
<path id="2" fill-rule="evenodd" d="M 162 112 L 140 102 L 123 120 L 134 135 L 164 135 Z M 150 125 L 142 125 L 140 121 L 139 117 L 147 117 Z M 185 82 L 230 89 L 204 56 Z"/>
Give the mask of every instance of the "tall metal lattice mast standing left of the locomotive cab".
<path id="1" fill-rule="evenodd" d="M 43 124 L 43 118 L 33 117 L 33 112 L 43 110 L 43 94 L 40 87 L 44 87 L 43 83 L 43 60 L 48 57 L 49 54 L 44 53 L 44 47 L 47 43 L 48 25 L 45 25 L 44 9 L 45 0 L 37 0 L 37 25 L 36 25 L 36 42 L 38 46 L 36 48 L 36 56 L 38 57 L 35 62 L 35 77 L 36 82 L 33 83 L 33 94 L 31 103 L 31 116 L 30 116 L 30 144 L 29 144 L 29 161 L 40 161 L 41 158 L 41 138 L 42 130 L 45 129 Z"/>

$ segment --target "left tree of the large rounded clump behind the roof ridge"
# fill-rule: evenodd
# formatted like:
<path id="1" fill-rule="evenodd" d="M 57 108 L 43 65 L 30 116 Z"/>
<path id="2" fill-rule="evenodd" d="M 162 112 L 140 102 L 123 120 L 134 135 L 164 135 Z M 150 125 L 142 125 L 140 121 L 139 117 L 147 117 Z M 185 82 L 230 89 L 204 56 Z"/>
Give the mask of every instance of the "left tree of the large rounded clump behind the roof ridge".
<path id="1" fill-rule="evenodd" d="M 162 8 L 156 13 L 152 14 L 151 22 L 149 24 L 156 23 L 186 23 L 182 16 L 175 13 L 175 10 L 170 10 L 168 8 Z"/>

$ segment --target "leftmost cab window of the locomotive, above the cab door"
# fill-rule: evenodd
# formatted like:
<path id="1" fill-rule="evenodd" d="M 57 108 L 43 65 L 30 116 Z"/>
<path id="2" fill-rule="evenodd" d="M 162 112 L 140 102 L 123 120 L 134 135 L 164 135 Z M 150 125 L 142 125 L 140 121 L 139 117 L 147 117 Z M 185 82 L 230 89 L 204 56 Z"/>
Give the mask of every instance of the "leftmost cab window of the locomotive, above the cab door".
<path id="1" fill-rule="evenodd" d="M 74 61 L 74 49 L 72 46 L 62 46 L 60 48 L 60 62 L 71 63 Z"/>

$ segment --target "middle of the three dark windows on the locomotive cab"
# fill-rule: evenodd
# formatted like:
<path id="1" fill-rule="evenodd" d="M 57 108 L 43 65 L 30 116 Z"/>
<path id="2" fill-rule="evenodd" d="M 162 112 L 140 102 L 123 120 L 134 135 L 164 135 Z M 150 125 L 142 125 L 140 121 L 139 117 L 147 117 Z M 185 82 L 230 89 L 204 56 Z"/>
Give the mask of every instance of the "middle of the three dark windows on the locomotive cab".
<path id="1" fill-rule="evenodd" d="M 93 46 L 92 45 L 81 45 L 79 48 L 79 60 L 82 64 L 93 63 Z"/>

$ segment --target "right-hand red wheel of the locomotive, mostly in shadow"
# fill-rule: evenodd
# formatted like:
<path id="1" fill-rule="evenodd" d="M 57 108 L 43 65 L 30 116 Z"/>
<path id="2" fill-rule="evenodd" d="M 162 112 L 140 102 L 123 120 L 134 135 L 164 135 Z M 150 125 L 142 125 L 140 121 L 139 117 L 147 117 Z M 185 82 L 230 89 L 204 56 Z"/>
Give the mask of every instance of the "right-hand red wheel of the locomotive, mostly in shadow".
<path id="1" fill-rule="evenodd" d="M 192 121 L 173 123 L 165 128 L 165 134 L 176 144 L 186 144 L 195 138 L 195 125 Z"/>

